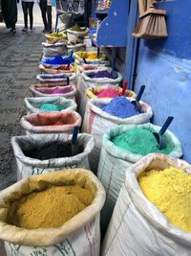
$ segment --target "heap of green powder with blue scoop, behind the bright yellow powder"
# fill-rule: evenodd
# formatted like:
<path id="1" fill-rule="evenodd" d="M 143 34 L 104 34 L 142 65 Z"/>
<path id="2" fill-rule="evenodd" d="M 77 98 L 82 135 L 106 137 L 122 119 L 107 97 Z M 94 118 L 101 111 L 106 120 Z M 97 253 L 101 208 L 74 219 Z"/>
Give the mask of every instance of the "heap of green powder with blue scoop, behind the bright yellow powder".
<path id="1" fill-rule="evenodd" d="M 159 152 L 169 154 L 174 149 L 174 145 L 164 134 L 165 148 L 159 150 L 158 142 L 154 137 L 154 130 L 145 128 L 132 128 L 127 132 L 120 134 L 112 139 L 112 142 L 119 148 L 125 151 L 131 151 L 141 155 L 146 155 L 151 152 Z"/>

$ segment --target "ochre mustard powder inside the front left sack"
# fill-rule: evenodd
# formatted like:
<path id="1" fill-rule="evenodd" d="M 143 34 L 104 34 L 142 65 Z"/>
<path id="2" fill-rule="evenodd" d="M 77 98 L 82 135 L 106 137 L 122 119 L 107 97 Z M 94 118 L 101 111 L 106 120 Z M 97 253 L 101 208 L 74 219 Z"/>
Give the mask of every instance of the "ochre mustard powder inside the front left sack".
<path id="1" fill-rule="evenodd" d="M 8 221 L 27 229 L 59 227 L 92 201 L 92 193 L 77 185 L 53 186 L 13 202 Z"/>

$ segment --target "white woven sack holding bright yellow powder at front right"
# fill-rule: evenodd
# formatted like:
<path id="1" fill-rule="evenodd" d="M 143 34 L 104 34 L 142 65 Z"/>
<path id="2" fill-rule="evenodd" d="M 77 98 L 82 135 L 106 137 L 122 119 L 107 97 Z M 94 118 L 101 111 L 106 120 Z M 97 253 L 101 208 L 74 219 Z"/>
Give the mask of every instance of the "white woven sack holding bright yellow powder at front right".
<path id="1" fill-rule="evenodd" d="M 101 255 L 191 255 L 191 233 L 172 224 L 165 214 L 162 214 L 159 208 L 144 196 L 138 183 L 138 176 L 144 171 L 159 170 L 162 172 L 170 167 L 182 169 L 184 173 L 191 175 L 191 167 L 186 162 L 157 153 L 141 158 L 126 170 L 124 183 L 103 241 Z M 184 185 L 180 188 L 180 180 L 175 180 L 175 183 L 174 190 L 182 189 L 181 192 L 183 192 Z M 165 187 L 163 189 L 163 194 L 166 196 L 167 191 Z M 157 191 L 158 187 L 155 188 L 155 192 Z M 190 197 L 189 192 L 185 195 Z M 178 204 L 184 199 L 180 196 Z M 161 198 L 160 201 L 163 202 L 163 200 L 164 198 Z M 184 202 L 184 205 L 190 207 L 187 203 L 188 200 Z M 167 205 L 173 210 L 174 204 L 167 203 Z M 165 212 L 165 208 L 163 210 Z M 180 212 L 176 209 L 174 214 L 180 216 Z M 190 219 L 190 212 L 187 212 L 186 217 L 186 220 Z M 183 219 L 184 216 L 180 218 Z"/>

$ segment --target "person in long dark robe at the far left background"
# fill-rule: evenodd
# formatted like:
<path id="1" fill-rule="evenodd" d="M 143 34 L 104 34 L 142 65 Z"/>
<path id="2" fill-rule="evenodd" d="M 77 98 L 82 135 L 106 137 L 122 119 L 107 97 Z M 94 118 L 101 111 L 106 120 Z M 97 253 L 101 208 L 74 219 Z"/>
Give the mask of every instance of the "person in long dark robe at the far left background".
<path id="1" fill-rule="evenodd" d="M 15 24 L 17 22 L 17 5 L 19 0 L 2 0 L 2 15 L 8 29 L 11 33 L 16 32 Z"/>

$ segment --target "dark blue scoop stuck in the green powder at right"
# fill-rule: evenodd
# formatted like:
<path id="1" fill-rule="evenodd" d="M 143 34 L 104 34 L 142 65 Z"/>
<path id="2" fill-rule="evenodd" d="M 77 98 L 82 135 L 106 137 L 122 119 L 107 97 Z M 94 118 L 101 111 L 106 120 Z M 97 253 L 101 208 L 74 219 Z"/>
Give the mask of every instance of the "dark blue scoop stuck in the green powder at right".
<path id="1" fill-rule="evenodd" d="M 170 126 L 171 122 L 173 121 L 174 117 L 173 116 L 169 116 L 164 125 L 162 126 L 162 128 L 160 128 L 159 133 L 158 132 L 153 132 L 153 135 L 155 136 L 157 142 L 158 142 L 158 148 L 159 150 L 162 150 L 165 148 L 165 139 L 164 139 L 164 132 L 166 131 L 166 129 Z"/>

